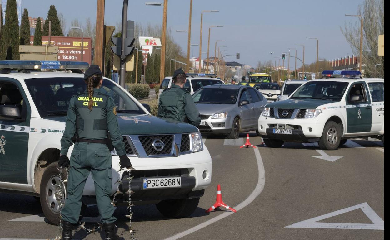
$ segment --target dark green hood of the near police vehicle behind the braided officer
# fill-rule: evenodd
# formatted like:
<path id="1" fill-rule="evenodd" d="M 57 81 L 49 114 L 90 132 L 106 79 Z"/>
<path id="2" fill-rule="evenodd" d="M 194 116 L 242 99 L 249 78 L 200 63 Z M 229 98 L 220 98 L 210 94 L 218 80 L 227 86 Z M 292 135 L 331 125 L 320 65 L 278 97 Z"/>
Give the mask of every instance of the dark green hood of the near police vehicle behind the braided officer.
<path id="1" fill-rule="evenodd" d="M 46 119 L 65 122 L 64 117 Z M 122 135 L 191 133 L 199 131 L 188 123 L 181 123 L 147 114 L 118 114 L 118 124 Z"/>

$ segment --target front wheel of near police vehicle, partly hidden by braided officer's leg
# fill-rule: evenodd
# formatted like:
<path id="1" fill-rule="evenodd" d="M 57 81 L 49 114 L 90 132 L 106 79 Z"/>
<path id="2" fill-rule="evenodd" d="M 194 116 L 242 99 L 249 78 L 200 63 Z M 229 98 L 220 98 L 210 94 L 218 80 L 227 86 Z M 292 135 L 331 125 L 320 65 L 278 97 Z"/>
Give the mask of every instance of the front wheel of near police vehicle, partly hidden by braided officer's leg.
<path id="1" fill-rule="evenodd" d="M 58 177 L 59 172 L 60 168 L 58 167 L 58 162 L 51 163 L 44 171 L 40 184 L 39 196 L 41 207 L 43 214 L 51 224 L 59 224 L 60 203 L 65 203 L 66 198 L 66 184 L 62 187 L 62 196 L 55 196 L 54 194 L 60 189 L 58 186 L 55 186 L 55 184 L 60 183 Z M 67 179 L 67 172 L 66 170 L 63 170 L 62 180 L 65 179 Z"/>

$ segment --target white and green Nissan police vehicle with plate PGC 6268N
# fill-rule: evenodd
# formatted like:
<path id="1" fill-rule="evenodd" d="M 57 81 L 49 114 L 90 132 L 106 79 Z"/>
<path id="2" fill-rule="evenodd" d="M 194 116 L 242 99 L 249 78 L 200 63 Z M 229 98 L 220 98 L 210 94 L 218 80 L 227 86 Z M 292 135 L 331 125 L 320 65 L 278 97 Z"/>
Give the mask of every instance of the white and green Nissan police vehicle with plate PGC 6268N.
<path id="1" fill-rule="evenodd" d="M 85 91 L 80 69 L 87 67 L 81 62 L 0 61 L 0 192 L 39 197 L 44 215 L 52 223 L 59 222 L 59 208 L 66 198 L 55 194 L 60 183 L 60 139 L 70 98 Z M 37 71 L 39 68 L 80 73 Z M 211 182 L 211 156 L 199 130 L 151 116 L 149 106 L 141 105 L 109 79 L 103 80 L 103 91 L 117 103 L 126 154 L 136 169 L 131 171 L 131 189 L 135 192 L 131 200 L 156 204 L 167 217 L 192 214 Z M 158 146 L 153 144 L 156 141 Z M 115 151 L 112 154 L 112 194 L 118 179 L 123 182 L 120 191 L 126 193 L 129 173 L 119 172 L 119 157 Z M 175 186 L 154 184 L 156 179 L 160 183 L 175 179 Z M 84 207 L 94 204 L 94 195 L 89 176 L 82 198 Z M 128 200 L 126 194 L 120 195 L 121 199 L 118 196 L 117 204 Z"/>

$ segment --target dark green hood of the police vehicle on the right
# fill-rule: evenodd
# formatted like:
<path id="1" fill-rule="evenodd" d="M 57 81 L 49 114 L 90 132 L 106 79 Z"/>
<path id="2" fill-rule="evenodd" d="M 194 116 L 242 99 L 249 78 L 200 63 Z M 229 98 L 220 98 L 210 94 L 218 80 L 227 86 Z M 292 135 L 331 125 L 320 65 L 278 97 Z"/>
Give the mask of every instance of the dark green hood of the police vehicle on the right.
<path id="1" fill-rule="evenodd" d="M 334 101 L 318 99 L 287 99 L 283 101 L 268 103 L 266 107 L 285 109 L 316 109 L 318 106 L 332 102 Z"/>

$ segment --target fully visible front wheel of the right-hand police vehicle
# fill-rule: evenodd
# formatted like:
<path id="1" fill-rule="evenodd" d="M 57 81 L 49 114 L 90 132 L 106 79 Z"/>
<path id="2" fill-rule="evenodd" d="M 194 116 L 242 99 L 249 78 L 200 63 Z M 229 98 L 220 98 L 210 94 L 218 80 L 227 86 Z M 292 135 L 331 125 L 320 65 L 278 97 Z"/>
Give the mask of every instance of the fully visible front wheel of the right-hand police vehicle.
<path id="1" fill-rule="evenodd" d="M 328 121 L 318 142 L 322 150 L 336 150 L 340 145 L 341 126 L 333 121 Z"/>

